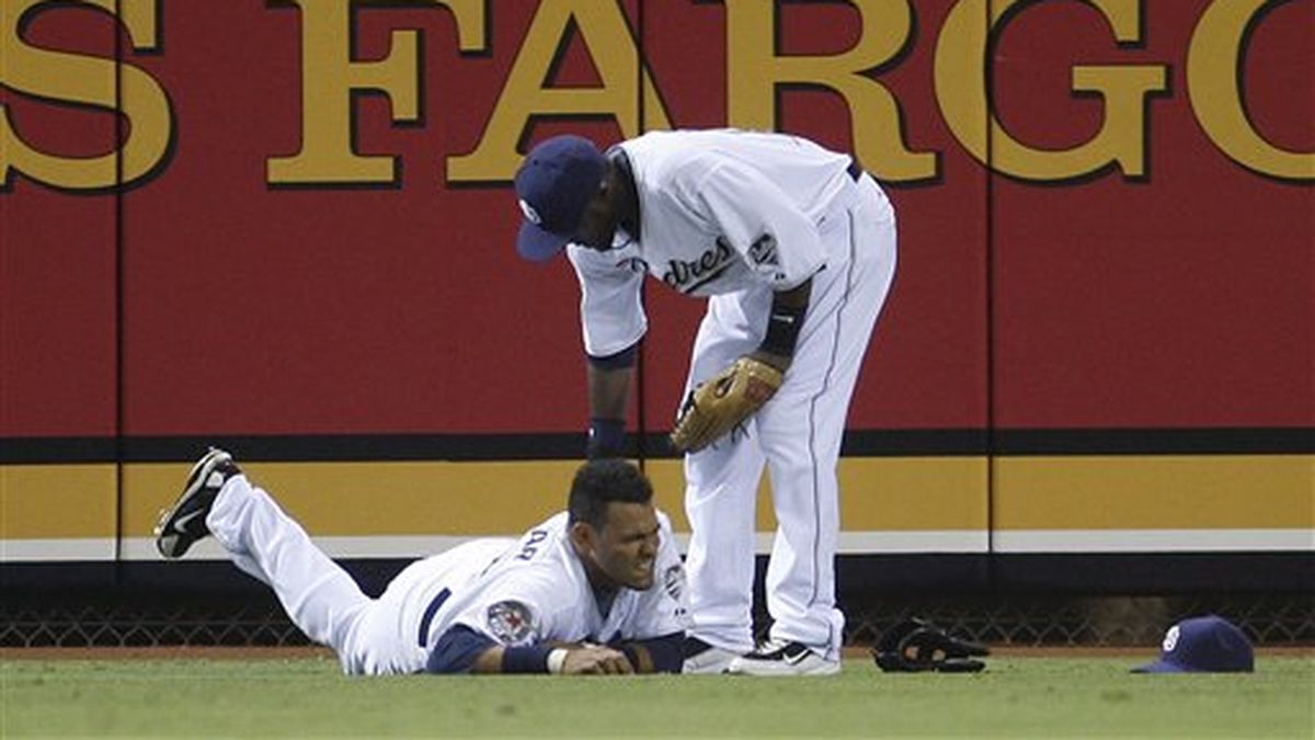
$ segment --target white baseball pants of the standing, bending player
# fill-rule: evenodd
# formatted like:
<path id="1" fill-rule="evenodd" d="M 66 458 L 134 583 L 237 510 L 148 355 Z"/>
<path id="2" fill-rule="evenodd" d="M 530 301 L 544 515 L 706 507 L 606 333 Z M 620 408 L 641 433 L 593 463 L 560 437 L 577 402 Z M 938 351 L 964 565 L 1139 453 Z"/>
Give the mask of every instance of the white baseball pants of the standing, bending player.
<path id="1" fill-rule="evenodd" d="M 896 220 L 885 194 L 868 175 L 855 188 L 855 203 L 823 226 L 830 258 L 813 278 L 780 391 L 748 421 L 747 433 L 685 456 L 693 633 L 736 653 L 753 648 L 753 516 L 765 462 L 777 520 L 767 570 L 771 636 L 839 657 L 836 463 L 849 399 L 896 269 Z M 686 394 L 757 348 L 771 303 L 765 288 L 709 299 Z"/>

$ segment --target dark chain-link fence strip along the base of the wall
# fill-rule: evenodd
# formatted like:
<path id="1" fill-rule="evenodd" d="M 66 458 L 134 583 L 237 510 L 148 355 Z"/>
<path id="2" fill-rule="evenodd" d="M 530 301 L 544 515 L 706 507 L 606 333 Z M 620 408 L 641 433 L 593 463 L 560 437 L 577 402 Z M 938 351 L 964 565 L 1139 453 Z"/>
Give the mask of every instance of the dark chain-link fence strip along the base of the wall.
<path id="1" fill-rule="evenodd" d="M 43 596 L 0 606 L 0 647 L 306 645 L 272 598 L 188 598 L 149 603 L 101 598 L 74 603 Z M 1219 614 L 1258 645 L 1315 644 L 1315 595 L 1193 596 L 885 596 L 847 604 L 846 643 L 868 645 L 894 623 L 920 616 L 993 645 L 1156 645 L 1168 625 Z"/>

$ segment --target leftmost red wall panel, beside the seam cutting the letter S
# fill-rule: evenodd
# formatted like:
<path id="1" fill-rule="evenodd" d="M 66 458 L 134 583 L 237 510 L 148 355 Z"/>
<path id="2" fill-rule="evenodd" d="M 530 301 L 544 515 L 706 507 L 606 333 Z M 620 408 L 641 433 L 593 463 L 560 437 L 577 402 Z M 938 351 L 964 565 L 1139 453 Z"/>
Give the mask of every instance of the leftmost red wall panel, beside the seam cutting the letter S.
<path id="1" fill-rule="evenodd" d="M 34 20 L 26 26 L 34 49 L 12 53 L 9 34 L 17 29 L 5 5 L 0 433 L 7 437 L 113 436 L 117 428 L 116 46 L 100 13 L 70 11 L 58 22 Z M 70 74 L 49 90 L 42 66 L 53 53 L 38 51 L 46 46 L 76 55 L 64 57 Z M 50 100 L 59 93 L 82 100 Z M 20 147 L 78 161 L 54 163 Z M 78 169 L 105 184 L 76 196 L 22 183 L 21 169 L 51 175 Z"/>

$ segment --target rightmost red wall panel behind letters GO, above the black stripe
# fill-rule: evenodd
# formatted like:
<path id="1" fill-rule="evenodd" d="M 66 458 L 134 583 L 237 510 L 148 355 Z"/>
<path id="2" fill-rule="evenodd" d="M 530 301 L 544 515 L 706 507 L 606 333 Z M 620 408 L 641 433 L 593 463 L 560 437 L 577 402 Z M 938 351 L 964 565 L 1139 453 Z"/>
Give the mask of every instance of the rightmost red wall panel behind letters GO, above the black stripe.
<path id="1" fill-rule="evenodd" d="M 1224 30 L 1243 7 L 1251 21 Z M 1068 91 L 1073 63 L 1160 68 L 1164 91 L 1141 105 L 1130 141 L 1145 149 L 1137 176 L 1112 169 L 1040 187 L 993 176 L 995 420 L 1308 427 L 1315 63 L 1301 50 L 1315 41 L 1312 4 L 1147 3 L 1141 13 L 1131 49 L 1112 46 L 1082 3 L 1020 13 L 997 42 L 995 107 L 1036 147 L 1068 149 L 1101 126 L 1099 100 Z M 1215 36 L 1237 37 L 1237 54 L 1201 46 Z M 1199 57 L 1223 57 L 1210 71 L 1235 65 L 1236 80 L 1194 79 Z M 1255 147 L 1306 153 L 1282 157 L 1304 176 L 1220 150 L 1222 126 L 1205 111 L 1214 87 L 1232 84 Z"/>

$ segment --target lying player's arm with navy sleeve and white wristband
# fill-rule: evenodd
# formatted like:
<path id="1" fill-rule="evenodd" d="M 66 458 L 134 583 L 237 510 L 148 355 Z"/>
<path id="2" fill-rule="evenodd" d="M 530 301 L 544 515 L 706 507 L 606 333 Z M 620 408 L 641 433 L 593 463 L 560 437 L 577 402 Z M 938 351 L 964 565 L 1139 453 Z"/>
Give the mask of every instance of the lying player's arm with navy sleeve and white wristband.
<path id="1" fill-rule="evenodd" d="M 621 650 L 597 645 L 502 645 L 458 624 L 438 639 L 429 653 L 426 673 L 634 673 Z"/>

